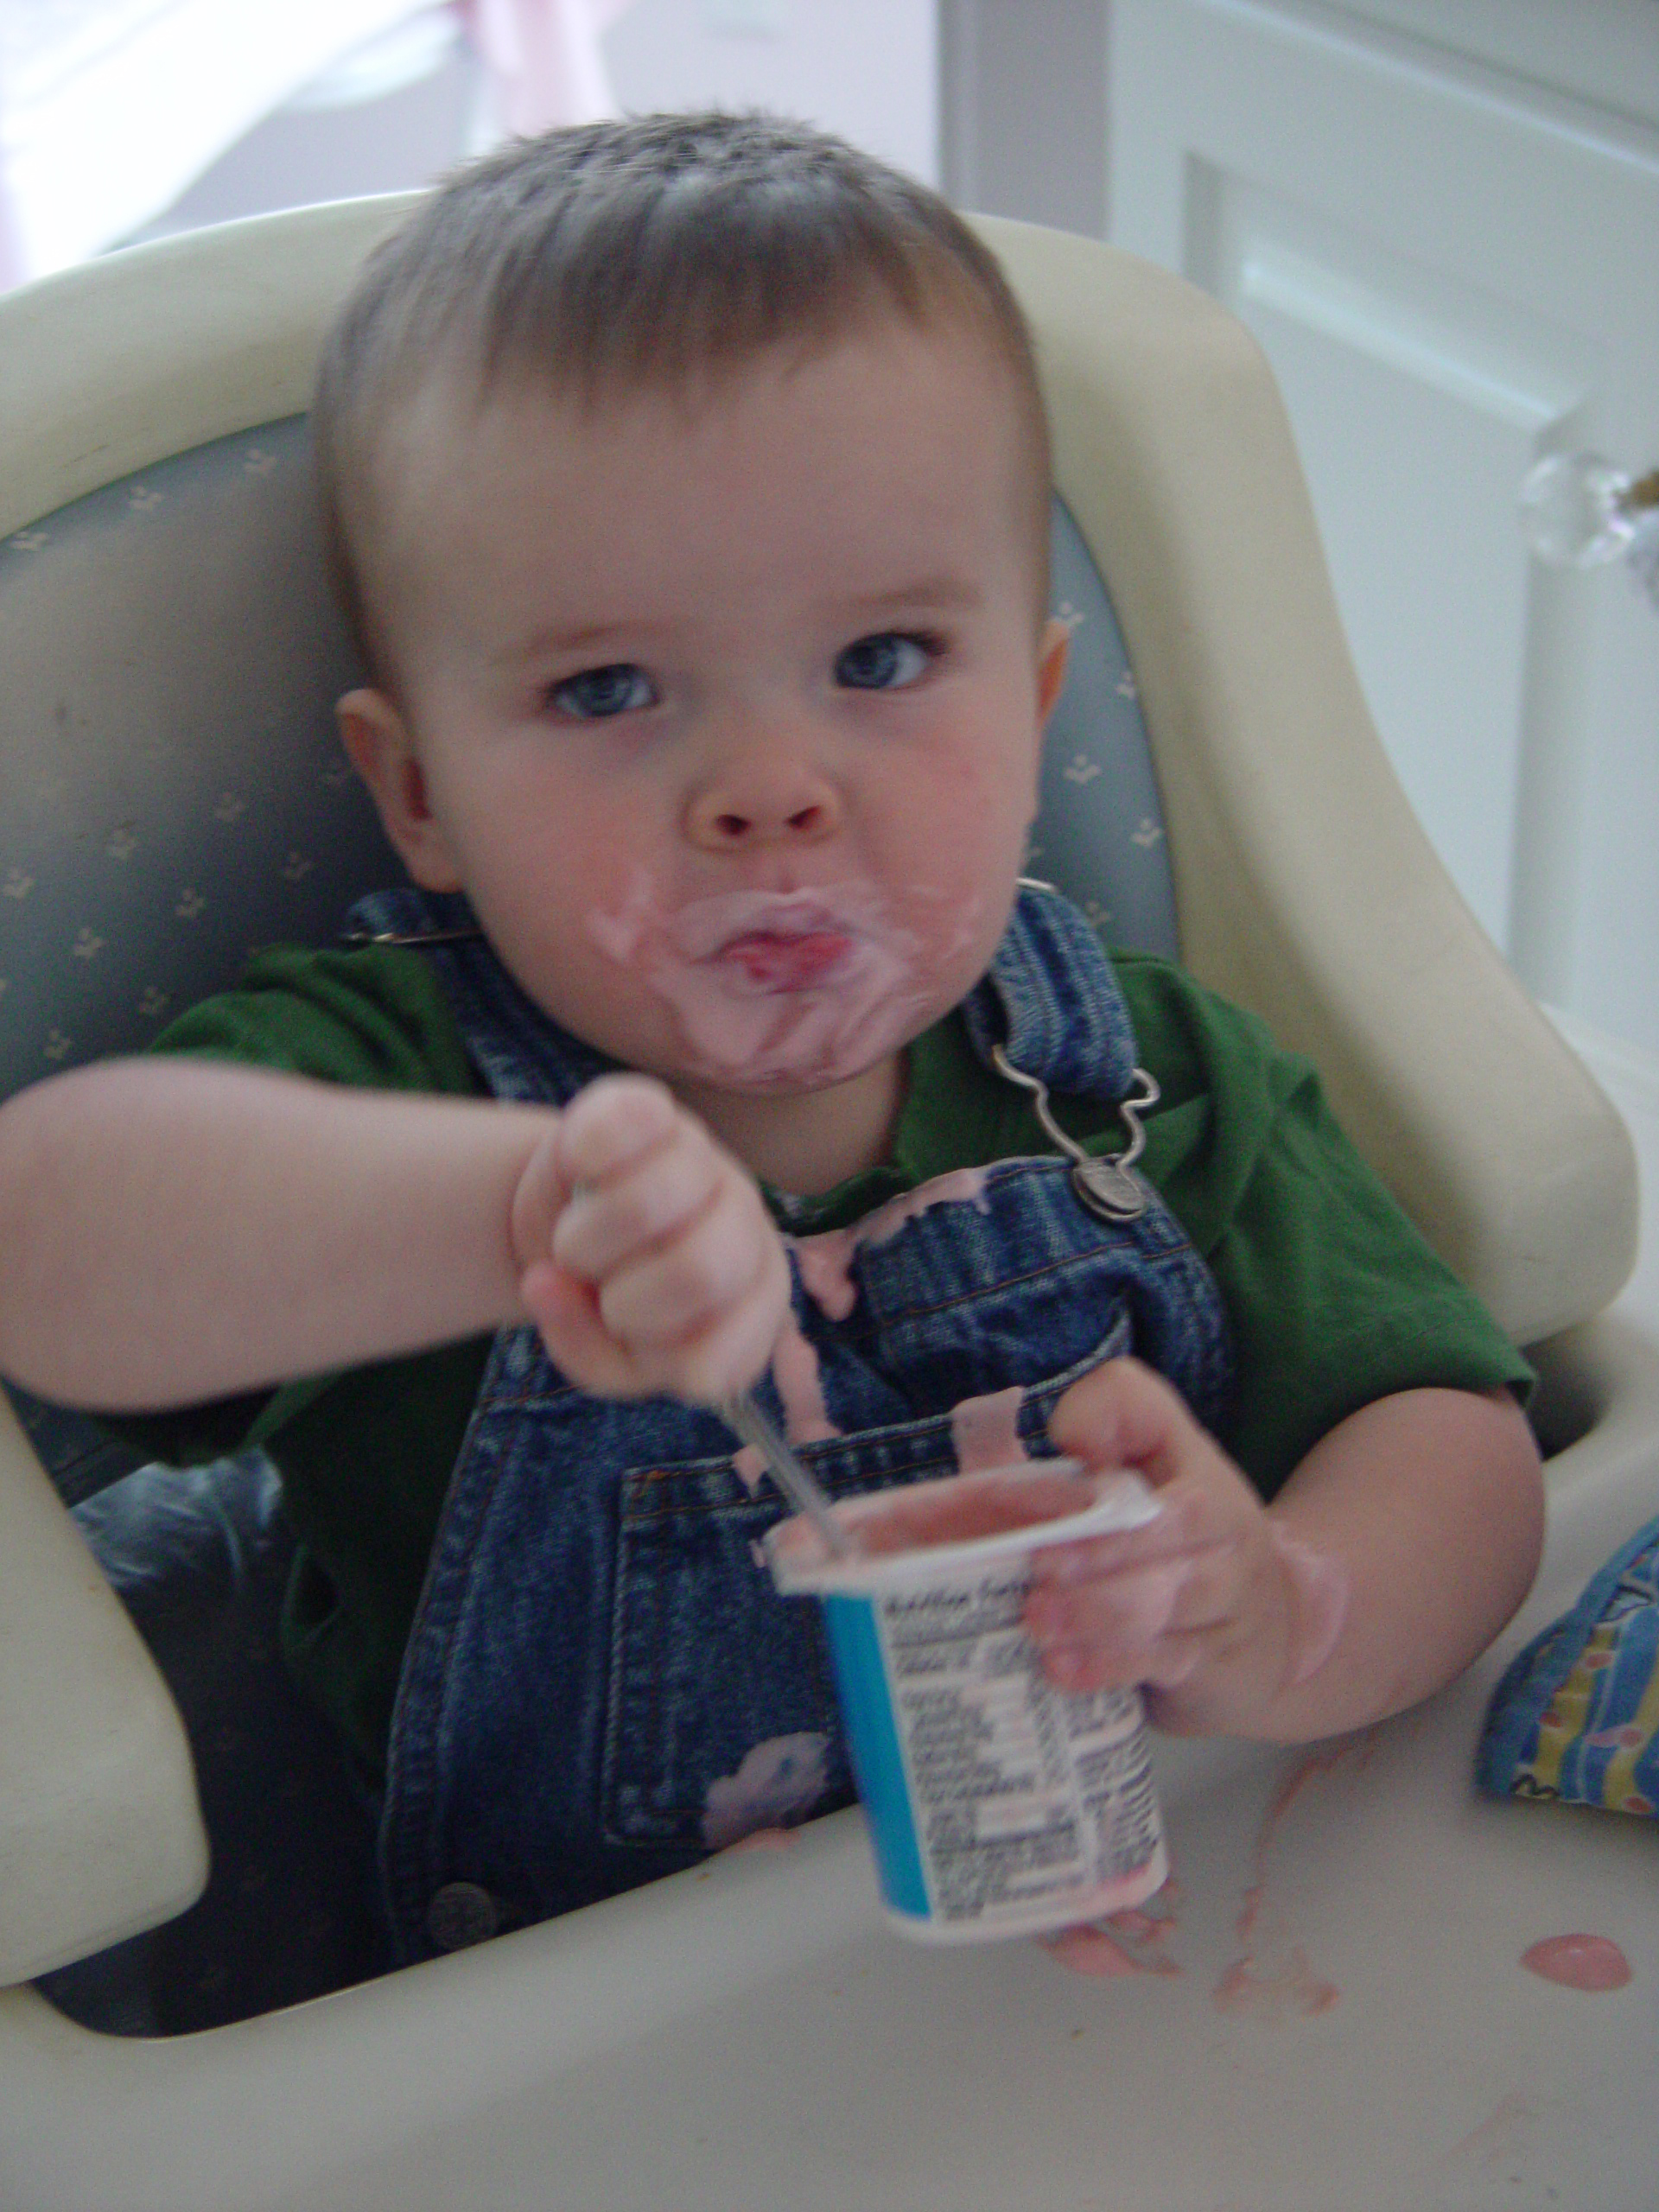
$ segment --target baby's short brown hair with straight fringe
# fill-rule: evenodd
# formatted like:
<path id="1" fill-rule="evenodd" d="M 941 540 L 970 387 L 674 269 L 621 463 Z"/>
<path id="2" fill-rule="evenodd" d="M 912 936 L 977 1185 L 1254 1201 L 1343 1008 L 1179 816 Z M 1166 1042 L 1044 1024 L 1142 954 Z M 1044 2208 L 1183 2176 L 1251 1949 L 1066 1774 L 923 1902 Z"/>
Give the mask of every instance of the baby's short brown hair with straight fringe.
<path id="1" fill-rule="evenodd" d="M 358 553 L 385 422 L 434 365 L 602 405 L 692 392 L 858 323 L 960 325 L 1002 363 L 1046 606 L 1048 427 L 993 254 L 927 186 L 770 115 L 641 115 L 513 139 L 447 179 L 367 259 L 319 365 L 312 427 L 334 580 L 369 666 Z"/>

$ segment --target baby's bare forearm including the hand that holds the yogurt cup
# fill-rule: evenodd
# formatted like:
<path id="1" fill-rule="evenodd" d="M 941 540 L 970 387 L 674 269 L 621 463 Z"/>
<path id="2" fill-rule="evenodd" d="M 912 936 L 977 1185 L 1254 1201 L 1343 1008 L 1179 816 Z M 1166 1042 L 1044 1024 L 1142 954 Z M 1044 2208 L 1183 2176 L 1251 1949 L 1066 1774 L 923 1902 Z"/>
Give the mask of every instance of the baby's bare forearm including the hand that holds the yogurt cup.
<path id="1" fill-rule="evenodd" d="M 1537 1449 L 1509 1391 L 1413 1389 L 1329 1431 L 1263 1506 L 1159 1376 L 1084 1376 L 1051 1420 L 1095 1467 L 1139 1469 L 1164 1513 L 1042 1553 L 1029 1626 L 1055 1681 L 1148 1686 L 1181 1734 L 1301 1741 L 1449 1683 L 1537 1568 Z"/>

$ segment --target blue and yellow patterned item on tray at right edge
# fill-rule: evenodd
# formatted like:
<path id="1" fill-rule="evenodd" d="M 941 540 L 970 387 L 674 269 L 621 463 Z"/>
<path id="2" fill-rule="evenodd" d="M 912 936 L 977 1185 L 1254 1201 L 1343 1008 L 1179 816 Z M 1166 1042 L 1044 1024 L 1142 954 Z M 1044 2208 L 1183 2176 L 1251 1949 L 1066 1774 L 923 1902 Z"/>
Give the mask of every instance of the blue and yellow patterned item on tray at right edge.
<path id="1" fill-rule="evenodd" d="M 1659 1522 L 1511 1663 L 1475 1772 L 1498 1796 L 1659 1812 Z"/>

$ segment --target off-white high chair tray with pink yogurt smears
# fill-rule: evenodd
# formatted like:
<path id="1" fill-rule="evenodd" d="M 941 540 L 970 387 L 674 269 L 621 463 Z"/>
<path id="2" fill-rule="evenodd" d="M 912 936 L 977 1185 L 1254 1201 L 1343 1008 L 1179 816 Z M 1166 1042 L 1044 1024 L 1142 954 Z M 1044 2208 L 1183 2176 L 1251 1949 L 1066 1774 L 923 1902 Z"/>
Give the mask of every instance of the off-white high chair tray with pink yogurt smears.
<path id="1" fill-rule="evenodd" d="M 1659 1495 L 1659 1336 L 1584 1332 L 1537 1590 L 1451 1692 L 1336 1743 L 1159 1747 L 1139 1971 L 878 1920 L 860 1816 L 177 2042 L 0 1997 L 9 2212 L 1425 2212 L 1655 2203 L 1652 1825 L 1491 1803 L 1486 1697 Z M 1535 1978 L 1595 1933 L 1628 1986 Z M 1099 1964 L 1099 1960 L 1097 1960 Z"/>

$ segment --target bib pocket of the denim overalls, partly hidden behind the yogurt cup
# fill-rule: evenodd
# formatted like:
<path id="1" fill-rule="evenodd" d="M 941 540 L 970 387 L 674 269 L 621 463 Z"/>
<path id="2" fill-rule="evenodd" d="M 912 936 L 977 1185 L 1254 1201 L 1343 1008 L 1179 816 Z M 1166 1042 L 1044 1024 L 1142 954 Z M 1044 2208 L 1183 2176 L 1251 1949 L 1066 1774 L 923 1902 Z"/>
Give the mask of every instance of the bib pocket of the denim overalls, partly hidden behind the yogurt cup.
<path id="1" fill-rule="evenodd" d="M 1046 1449 L 1060 1394 L 1126 1349 L 1026 1389 L 1020 1440 Z M 832 1498 L 956 1473 L 951 1416 L 807 1444 Z M 719 1849 L 852 1801 L 818 1606 L 779 1597 L 759 1542 L 785 1515 L 730 1460 L 633 1469 L 622 1482 L 602 1816 L 608 1843 Z"/>

